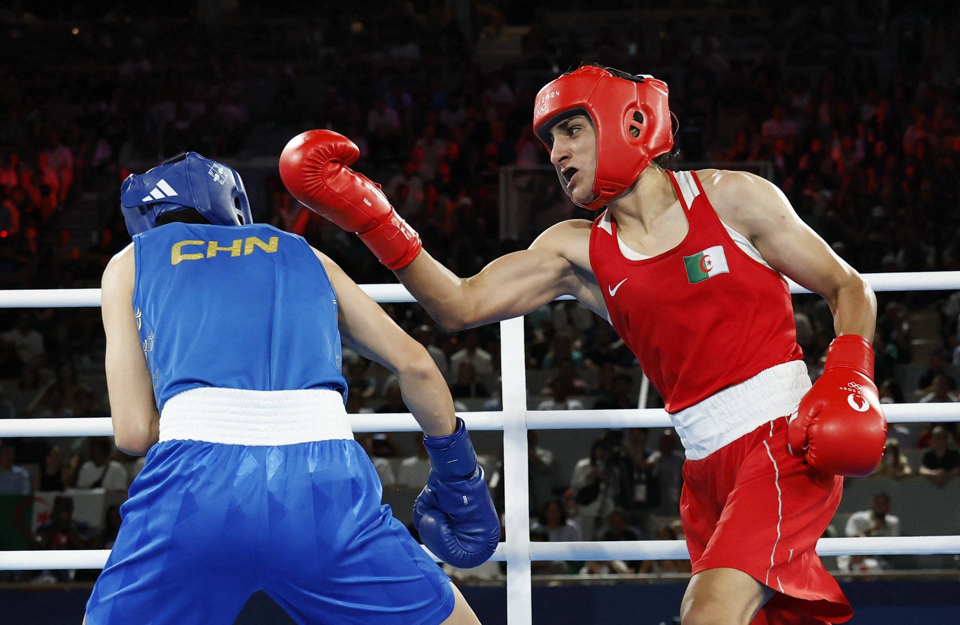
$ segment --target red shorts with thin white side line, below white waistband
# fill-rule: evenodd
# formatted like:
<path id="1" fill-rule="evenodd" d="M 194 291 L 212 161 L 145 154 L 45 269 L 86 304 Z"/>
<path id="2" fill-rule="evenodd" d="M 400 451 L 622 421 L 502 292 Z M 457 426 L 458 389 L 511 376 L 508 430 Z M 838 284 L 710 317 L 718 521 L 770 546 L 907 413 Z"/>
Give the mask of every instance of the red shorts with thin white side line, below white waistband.
<path id="1" fill-rule="evenodd" d="M 840 505 L 843 477 L 786 448 L 786 419 L 684 463 L 680 517 L 693 573 L 735 568 L 777 590 L 752 625 L 843 623 L 853 611 L 814 551 Z"/>

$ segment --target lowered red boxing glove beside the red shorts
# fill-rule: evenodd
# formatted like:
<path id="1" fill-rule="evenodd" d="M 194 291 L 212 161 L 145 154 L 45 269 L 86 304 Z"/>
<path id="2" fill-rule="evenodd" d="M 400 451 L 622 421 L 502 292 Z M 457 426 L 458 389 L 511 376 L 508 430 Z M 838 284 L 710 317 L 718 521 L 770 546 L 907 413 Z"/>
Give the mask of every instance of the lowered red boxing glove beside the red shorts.
<path id="1" fill-rule="evenodd" d="M 887 420 L 873 377 L 874 349 L 865 338 L 833 339 L 824 374 L 790 417 L 790 453 L 825 473 L 863 477 L 874 472 L 883 457 Z"/>

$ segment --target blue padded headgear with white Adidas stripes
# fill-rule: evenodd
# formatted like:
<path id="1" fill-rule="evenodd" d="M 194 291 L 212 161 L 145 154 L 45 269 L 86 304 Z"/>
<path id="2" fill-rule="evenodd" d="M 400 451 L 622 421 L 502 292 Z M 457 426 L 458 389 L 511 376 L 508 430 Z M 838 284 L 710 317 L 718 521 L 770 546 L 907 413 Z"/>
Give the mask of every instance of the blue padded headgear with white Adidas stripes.
<path id="1" fill-rule="evenodd" d="M 196 208 L 217 226 L 253 221 L 240 174 L 196 152 L 168 158 L 143 176 L 131 174 L 120 186 L 120 211 L 131 236 L 156 228 L 160 215 L 184 208 Z"/>

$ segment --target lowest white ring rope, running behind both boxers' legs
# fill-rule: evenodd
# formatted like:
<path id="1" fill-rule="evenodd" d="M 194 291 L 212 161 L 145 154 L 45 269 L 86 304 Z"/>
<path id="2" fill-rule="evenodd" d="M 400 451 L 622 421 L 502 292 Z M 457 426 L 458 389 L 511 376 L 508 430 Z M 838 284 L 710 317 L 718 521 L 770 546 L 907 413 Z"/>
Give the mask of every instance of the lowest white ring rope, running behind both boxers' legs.
<path id="1" fill-rule="evenodd" d="M 503 562 L 510 548 L 501 542 L 491 560 Z M 440 560 L 424 549 L 435 561 Z M 901 536 L 857 539 L 820 539 L 821 556 L 897 556 L 960 553 L 960 536 Z M 103 568 L 109 549 L 63 551 L 0 551 L 0 570 Z M 684 541 L 531 542 L 530 560 L 686 560 Z"/>

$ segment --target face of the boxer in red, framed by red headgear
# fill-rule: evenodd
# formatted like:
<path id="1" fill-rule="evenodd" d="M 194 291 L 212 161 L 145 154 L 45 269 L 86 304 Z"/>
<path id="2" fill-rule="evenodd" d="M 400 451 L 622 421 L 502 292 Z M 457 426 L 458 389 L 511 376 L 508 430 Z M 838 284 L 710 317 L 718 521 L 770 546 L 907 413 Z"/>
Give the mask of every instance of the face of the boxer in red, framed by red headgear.
<path id="1" fill-rule="evenodd" d="M 593 176 L 597 169 L 597 141 L 587 115 L 564 119 L 552 129 L 550 162 L 557 168 L 566 194 L 578 204 L 593 200 Z"/>

